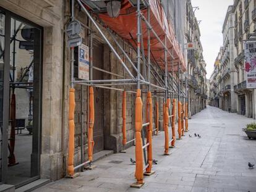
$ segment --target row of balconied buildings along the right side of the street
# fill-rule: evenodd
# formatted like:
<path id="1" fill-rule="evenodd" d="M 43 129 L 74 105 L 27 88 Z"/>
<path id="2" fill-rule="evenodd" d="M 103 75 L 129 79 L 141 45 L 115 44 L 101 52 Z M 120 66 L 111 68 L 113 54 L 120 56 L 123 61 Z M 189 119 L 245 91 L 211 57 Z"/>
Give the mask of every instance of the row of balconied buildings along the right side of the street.
<path id="1" fill-rule="evenodd" d="M 256 1 L 235 0 L 223 24 L 223 46 L 211 75 L 210 104 L 220 109 L 256 118 L 256 91 L 247 88 L 244 41 L 255 35 Z M 213 94 L 218 88 L 218 94 Z M 212 93 L 213 92 L 213 93 Z"/>

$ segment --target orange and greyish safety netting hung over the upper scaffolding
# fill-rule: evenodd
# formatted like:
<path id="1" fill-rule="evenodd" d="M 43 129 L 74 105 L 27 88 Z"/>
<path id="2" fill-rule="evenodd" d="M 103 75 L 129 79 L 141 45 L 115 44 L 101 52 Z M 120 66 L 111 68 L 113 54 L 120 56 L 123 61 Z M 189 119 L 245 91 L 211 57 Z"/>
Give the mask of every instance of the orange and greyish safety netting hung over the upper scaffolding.
<path id="1" fill-rule="evenodd" d="M 164 36 L 167 36 L 166 46 L 169 52 L 173 52 L 174 59 L 167 54 L 168 70 L 177 72 L 178 63 L 181 65 L 182 72 L 186 71 L 186 64 L 182 55 L 179 43 L 176 40 L 173 27 L 166 19 L 164 10 L 160 2 L 157 0 L 149 0 L 150 4 L 150 25 L 155 30 L 156 34 L 164 43 Z M 121 11 L 118 17 L 112 18 L 108 14 L 99 14 L 99 17 L 105 24 L 115 31 L 119 36 L 128 40 L 134 48 L 137 48 L 137 7 L 132 7 L 128 0 L 122 1 Z M 147 19 L 147 9 L 141 10 L 144 17 Z M 142 21 L 143 46 L 145 55 L 147 55 L 147 25 Z M 134 40 L 132 40 L 134 38 Z M 153 57 L 156 59 L 161 68 L 164 69 L 164 48 L 156 39 L 153 33 L 150 33 L 150 49 Z M 174 64 L 174 69 L 172 66 Z"/>

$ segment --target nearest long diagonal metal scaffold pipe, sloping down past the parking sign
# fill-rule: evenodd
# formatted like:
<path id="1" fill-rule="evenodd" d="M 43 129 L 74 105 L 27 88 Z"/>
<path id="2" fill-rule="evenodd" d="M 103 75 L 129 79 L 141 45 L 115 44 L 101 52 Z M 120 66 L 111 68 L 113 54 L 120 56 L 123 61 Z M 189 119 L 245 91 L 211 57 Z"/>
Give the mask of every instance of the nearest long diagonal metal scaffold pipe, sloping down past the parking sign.
<path id="1" fill-rule="evenodd" d="M 108 38 L 106 38 L 106 36 L 104 35 L 104 33 L 101 31 L 100 27 L 98 27 L 97 23 L 95 22 L 95 20 L 92 18 L 92 15 L 90 15 L 90 13 L 88 12 L 87 9 L 85 9 L 85 7 L 83 6 L 82 2 L 80 0 L 77 0 L 77 2 L 79 3 L 79 5 L 82 7 L 83 11 L 85 12 L 85 14 L 87 14 L 88 18 L 92 21 L 93 25 L 95 25 L 95 27 L 97 28 L 97 30 L 100 32 L 101 36 L 103 37 L 103 39 L 106 41 L 106 43 L 108 44 L 109 48 L 114 52 L 115 56 L 117 57 L 117 59 L 121 62 L 121 64 L 123 65 L 124 69 L 126 69 L 126 72 L 130 75 L 130 77 L 132 77 L 132 79 L 135 80 L 134 75 L 132 75 L 132 73 L 130 72 L 130 70 L 128 69 L 128 67 L 126 66 L 126 64 L 124 63 L 124 61 L 122 61 L 121 57 L 119 56 L 119 54 L 116 52 L 116 49 L 113 48 L 113 46 L 111 45 L 111 43 L 108 41 Z"/>

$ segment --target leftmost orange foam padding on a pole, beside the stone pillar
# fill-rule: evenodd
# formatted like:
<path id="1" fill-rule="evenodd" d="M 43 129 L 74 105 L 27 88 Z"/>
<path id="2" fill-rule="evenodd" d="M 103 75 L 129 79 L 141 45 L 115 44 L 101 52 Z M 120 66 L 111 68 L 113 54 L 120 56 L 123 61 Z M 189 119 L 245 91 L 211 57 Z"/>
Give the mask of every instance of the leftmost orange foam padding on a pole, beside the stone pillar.
<path id="1" fill-rule="evenodd" d="M 74 175 L 74 151 L 75 151 L 75 89 L 69 89 L 69 156 L 67 159 L 67 173 Z"/>

